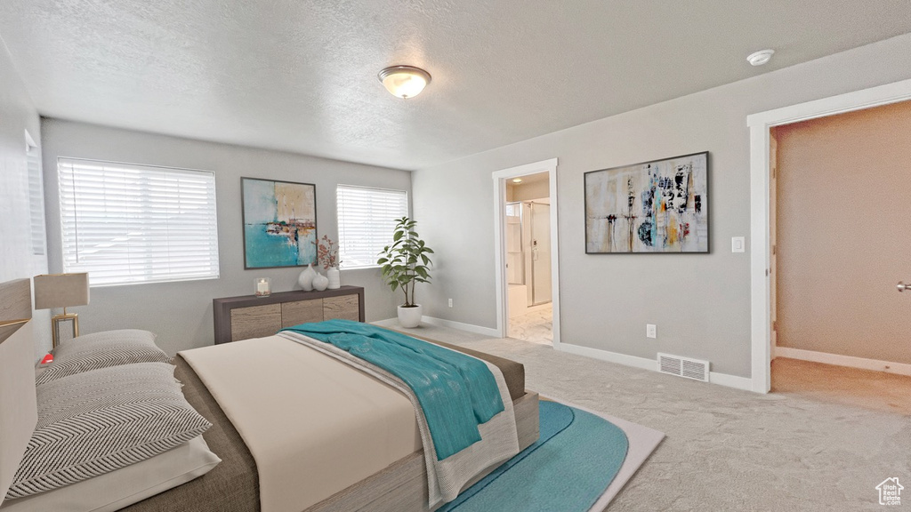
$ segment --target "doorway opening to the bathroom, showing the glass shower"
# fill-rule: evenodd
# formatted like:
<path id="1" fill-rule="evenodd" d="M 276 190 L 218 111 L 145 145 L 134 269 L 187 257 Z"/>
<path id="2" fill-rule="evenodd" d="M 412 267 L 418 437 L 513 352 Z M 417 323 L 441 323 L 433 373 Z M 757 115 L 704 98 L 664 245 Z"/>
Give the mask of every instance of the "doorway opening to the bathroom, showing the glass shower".
<path id="1" fill-rule="evenodd" d="M 557 160 L 498 170 L 494 178 L 497 331 L 559 343 Z"/>

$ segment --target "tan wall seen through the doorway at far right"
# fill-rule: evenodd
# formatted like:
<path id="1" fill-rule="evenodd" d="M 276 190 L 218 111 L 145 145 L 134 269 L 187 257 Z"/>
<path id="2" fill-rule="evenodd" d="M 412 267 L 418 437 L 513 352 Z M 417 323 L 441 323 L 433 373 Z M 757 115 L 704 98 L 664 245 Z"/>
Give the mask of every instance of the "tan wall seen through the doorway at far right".
<path id="1" fill-rule="evenodd" d="M 911 102 L 775 136 L 778 344 L 911 364 Z"/>

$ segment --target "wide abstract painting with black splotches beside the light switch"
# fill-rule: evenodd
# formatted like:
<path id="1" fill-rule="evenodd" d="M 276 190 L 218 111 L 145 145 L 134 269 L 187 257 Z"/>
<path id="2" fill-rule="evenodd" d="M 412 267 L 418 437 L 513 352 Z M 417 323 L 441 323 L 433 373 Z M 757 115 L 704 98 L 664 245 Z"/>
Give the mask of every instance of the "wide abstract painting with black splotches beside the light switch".
<path id="1" fill-rule="evenodd" d="M 585 251 L 708 252 L 709 152 L 585 173 Z"/>

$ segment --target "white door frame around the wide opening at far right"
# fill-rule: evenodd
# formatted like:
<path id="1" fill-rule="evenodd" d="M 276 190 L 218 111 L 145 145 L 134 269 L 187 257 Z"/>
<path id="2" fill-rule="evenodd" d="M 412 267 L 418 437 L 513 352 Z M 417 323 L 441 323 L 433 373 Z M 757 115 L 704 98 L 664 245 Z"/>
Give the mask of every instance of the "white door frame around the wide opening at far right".
<path id="1" fill-rule="evenodd" d="M 772 388 L 769 130 L 911 99 L 911 79 L 747 116 L 750 128 L 750 324 L 752 391 Z"/>

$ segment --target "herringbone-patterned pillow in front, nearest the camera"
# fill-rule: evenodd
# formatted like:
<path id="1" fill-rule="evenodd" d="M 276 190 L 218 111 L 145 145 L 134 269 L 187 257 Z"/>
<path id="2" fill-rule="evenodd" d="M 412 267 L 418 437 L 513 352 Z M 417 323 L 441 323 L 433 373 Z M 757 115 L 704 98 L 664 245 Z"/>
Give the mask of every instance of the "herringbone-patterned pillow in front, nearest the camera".
<path id="1" fill-rule="evenodd" d="M 174 366 L 140 363 L 37 387 L 38 423 L 6 498 L 26 497 L 159 455 L 205 432 Z"/>

